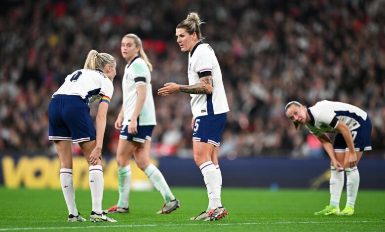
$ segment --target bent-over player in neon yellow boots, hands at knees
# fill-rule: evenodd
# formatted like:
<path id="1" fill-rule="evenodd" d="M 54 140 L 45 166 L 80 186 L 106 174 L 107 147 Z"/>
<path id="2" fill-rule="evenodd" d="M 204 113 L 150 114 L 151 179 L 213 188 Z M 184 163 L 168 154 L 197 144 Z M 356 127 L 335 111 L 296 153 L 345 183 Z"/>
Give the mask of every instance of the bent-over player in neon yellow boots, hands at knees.
<path id="1" fill-rule="evenodd" d="M 346 103 L 326 100 L 308 109 L 296 101 L 289 102 L 285 113 L 297 130 L 305 124 L 331 158 L 330 204 L 314 215 L 353 215 L 360 182 L 357 163 L 364 151 L 372 150 L 372 123 L 367 113 Z M 329 132 L 337 133 L 334 144 L 325 134 Z M 340 212 L 344 170 L 347 200 L 345 209 Z"/>

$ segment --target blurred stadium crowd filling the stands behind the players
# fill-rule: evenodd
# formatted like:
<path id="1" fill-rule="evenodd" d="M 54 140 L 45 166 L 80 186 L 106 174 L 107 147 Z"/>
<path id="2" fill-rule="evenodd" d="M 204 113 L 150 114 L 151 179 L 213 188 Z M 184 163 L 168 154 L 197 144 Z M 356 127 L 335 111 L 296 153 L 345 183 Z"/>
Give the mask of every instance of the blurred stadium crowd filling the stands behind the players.
<path id="1" fill-rule="evenodd" d="M 188 54 L 175 27 L 188 12 L 206 22 L 231 112 L 220 156 L 322 156 L 308 133 L 295 133 L 287 102 L 350 103 L 368 112 L 374 155 L 385 154 L 385 2 L 383 0 L 5 1 L 0 12 L 0 150 L 52 153 L 51 95 L 87 52 L 117 61 L 104 154 L 115 154 L 125 61 L 121 38 L 135 33 L 154 66 L 157 126 L 152 155 L 192 156 L 190 96 L 165 98 L 163 83 L 188 83 Z M 97 104 L 97 103 L 92 103 Z M 95 115 L 96 107 L 91 107 Z M 369 154 L 369 153 L 368 153 Z"/>

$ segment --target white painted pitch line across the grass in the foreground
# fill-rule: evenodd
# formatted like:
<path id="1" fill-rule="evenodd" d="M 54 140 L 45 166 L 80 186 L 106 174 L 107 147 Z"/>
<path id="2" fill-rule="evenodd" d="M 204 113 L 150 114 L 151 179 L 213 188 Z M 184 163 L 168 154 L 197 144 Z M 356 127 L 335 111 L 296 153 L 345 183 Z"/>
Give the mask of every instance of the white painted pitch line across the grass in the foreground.
<path id="1" fill-rule="evenodd" d="M 333 224 L 333 223 L 384 223 L 382 221 L 342 221 L 342 222 L 250 222 L 250 223 L 222 223 L 213 226 L 246 226 L 246 225 L 279 225 L 279 224 Z M 110 224 L 111 225 L 111 224 Z M 85 226 L 85 227 L 25 227 L 3 228 L 0 231 L 29 231 L 29 230 L 63 230 L 63 229 L 94 229 L 94 228 L 130 228 L 130 227 L 190 227 L 207 226 L 207 224 L 143 224 L 143 225 L 111 225 L 111 226 Z"/>

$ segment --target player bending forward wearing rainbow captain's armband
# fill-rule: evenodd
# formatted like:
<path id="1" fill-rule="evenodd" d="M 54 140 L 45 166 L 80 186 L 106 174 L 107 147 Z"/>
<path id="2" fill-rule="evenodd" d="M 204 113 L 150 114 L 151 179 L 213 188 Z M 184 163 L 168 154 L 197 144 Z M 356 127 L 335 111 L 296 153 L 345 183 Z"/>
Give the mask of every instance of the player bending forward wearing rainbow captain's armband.
<path id="1" fill-rule="evenodd" d="M 102 211 L 102 147 L 106 116 L 114 92 L 116 62 L 107 53 L 91 50 L 84 69 L 68 75 L 52 95 L 49 104 L 49 140 L 55 142 L 60 160 L 60 183 L 69 211 L 69 222 L 86 221 L 77 211 L 72 176 L 72 143 L 78 143 L 89 164 L 89 187 L 92 198 L 91 222 L 116 222 Z M 89 115 L 89 102 L 100 99 L 96 131 Z"/>

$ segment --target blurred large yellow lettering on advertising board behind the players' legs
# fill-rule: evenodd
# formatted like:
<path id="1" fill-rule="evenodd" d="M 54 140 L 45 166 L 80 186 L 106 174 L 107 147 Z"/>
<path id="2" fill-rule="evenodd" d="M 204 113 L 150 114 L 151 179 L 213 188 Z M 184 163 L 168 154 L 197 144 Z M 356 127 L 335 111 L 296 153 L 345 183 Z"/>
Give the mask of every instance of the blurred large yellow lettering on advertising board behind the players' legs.
<path id="1" fill-rule="evenodd" d="M 12 156 L 3 156 L 1 159 L 4 186 L 6 188 L 29 189 L 61 189 L 60 162 L 58 157 L 22 156 L 15 161 Z M 151 162 L 157 165 L 156 160 Z M 132 171 L 131 186 L 133 189 L 151 189 L 151 183 L 146 174 L 138 168 L 134 160 L 130 161 Z M 114 158 L 103 160 L 104 188 L 117 190 L 117 164 Z M 73 176 L 76 189 L 89 189 L 88 163 L 84 157 L 73 158 Z"/>

